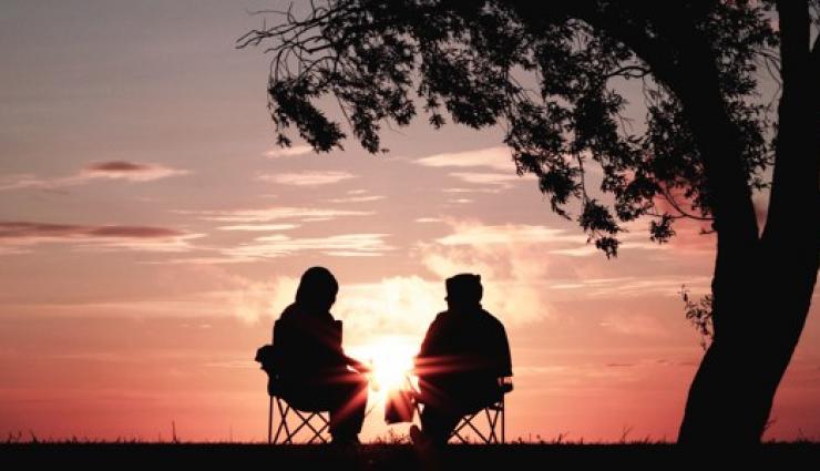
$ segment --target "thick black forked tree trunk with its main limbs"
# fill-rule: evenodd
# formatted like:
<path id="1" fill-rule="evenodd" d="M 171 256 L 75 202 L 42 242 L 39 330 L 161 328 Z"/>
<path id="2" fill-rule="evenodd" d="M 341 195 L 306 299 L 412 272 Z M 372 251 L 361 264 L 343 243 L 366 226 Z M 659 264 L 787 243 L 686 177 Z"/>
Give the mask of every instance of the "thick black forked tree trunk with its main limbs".
<path id="1" fill-rule="evenodd" d="M 527 10 L 530 4 L 517 2 L 516 8 L 523 18 L 539 18 Z M 621 4 L 597 7 L 575 2 L 563 13 L 633 48 L 678 96 L 704 162 L 715 216 L 715 338 L 693 380 L 678 441 L 759 443 L 806 321 L 820 254 L 820 51 L 814 45 L 809 53 L 808 6 L 806 0 L 778 2 L 783 95 L 762 237 L 744 171 L 740 131 L 727 115 L 714 51 L 695 29 L 703 12 L 675 2 L 658 14 L 644 12 L 667 33 L 668 42 L 658 43 L 621 21 Z M 803 219 L 791 215 L 797 208 L 808 208 Z"/>

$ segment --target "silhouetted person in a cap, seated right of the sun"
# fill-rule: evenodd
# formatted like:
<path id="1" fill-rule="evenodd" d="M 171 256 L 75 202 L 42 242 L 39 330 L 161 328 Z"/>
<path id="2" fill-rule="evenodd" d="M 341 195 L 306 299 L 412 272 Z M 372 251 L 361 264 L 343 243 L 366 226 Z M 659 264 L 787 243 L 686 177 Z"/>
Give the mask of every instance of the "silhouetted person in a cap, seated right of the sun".
<path id="1" fill-rule="evenodd" d="M 421 430 L 413 442 L 444 444 L 461 417 L 494 403 L 503 395 L 500 378 L 512 376 L 504 326 L 481 307 L 481 276 L 460 274 L 447 281 L 448 309 L 428 328 L 419 355 Z"/>

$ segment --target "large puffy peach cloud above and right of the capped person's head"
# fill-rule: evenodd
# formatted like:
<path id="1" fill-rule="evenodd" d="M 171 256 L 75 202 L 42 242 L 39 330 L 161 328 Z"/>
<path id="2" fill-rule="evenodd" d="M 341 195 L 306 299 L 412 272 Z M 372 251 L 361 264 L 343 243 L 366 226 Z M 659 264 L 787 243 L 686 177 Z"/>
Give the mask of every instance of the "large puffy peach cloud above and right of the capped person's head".
<path id="1" fill-rule="evenodd" d="M 708 277 L 669 274 L 601 276 L 604 260 L 586 237 L 542 225 L 486 225 L 444 221 L 449 233 L 417 246 L 422 265 L 440 278 L 478 273 L 486 305 L 505 320 L 529 322 L 551 316 L 551 303 L 585 298 L 676 297 L 680 285 L 708 286 Z M 588 255 L 580 257 L 581 252 Z M 597 258 L 595 258 L 597 257 Z M 624 322 L 622 322 L 623 325 Z M 632 325 L 631 325 L 632 326 Z M 638 331 L 638 326 L 633 326 Z"/>

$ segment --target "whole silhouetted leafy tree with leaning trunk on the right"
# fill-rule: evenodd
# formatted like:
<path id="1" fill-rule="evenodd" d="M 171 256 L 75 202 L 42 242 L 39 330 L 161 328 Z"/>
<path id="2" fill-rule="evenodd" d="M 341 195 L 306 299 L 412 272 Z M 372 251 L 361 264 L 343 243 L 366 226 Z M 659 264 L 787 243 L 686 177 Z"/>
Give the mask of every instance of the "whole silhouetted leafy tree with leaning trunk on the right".
<path id="1" fill-rule="evenodd" d="M 317 0 L 318 1 L 318 0 Z M 681 443 L 759 442 L 802 331 L 820 259 L 818 0 L 325 0 L 239 47 L 274 53 L 269 109 L 316 151 L 352 135 L 383 151 L 385 122 L 421 106 L 501 124 L 519 174 L 615 256 L 624 223 L 657 242 L 690 218 L 717 234 L 714 338 L 693 380 Z M 758 99 L 761 72 L 777 103 Z M 624 116 L 640 80 L 645 123 Z M 776 106 L 773 106 L 776 104 Z M 603 180 L 585 178 L 599 165 Z M 771 171 L 771 176 L 767 168 Z M 765 228 L 752 193 L 769 187 Z M 754 293 L 755 297 L 749 294 Z"/>

